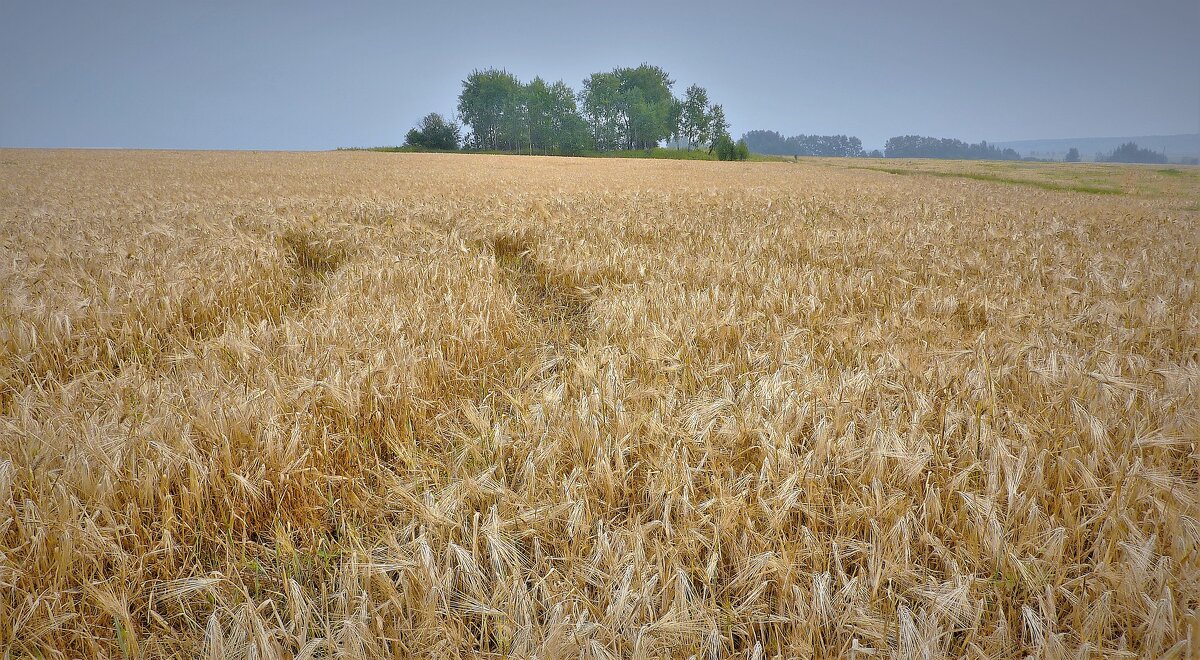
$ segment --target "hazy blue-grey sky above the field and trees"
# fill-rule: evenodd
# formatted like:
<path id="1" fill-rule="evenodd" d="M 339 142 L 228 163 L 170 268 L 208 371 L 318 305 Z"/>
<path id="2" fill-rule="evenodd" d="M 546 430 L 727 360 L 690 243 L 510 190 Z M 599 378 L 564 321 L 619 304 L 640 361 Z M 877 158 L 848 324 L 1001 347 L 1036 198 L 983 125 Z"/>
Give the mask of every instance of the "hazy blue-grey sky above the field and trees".
<path id="1" fill-rule="evenodd" d="M 0 0 L 0 146 L 398 144 L 475 67 L 643 61 L 732 132 L 1200 132 L 1200 0 Z"/>

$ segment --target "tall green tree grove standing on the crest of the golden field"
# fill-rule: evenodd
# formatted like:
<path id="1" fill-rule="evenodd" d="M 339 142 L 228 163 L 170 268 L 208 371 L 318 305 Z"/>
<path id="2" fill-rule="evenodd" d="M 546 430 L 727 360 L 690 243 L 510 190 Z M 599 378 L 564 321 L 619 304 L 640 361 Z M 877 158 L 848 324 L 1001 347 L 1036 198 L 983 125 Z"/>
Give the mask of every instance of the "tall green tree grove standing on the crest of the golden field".
<path id="1" fill-rule="evenodd" d="M 558 155 L 652 149 L 667 139 L 709 152 L 722 138 L 733 144 L 725 109 L 709 103 L 704 88 L 691 85 L 680 100 L 673 86 L 666 71 L 648 64 L 593 73 L 578 94 L 562 80 L 522 83 L 500 68 L 476 70 L 458 95 L 463 127 L 431 114 L 408 132 L 407 144 Z"/>

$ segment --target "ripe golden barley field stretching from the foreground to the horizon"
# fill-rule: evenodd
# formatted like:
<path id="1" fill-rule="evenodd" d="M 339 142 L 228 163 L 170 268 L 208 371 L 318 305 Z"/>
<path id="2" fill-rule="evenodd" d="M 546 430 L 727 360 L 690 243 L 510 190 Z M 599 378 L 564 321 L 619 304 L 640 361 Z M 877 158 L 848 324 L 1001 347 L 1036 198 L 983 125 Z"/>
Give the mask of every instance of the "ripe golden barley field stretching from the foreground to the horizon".
<path id="1" fill-rule="evenodd" d="M 0 150 L 0 650 L 1200 653 L 1200 169 L 995 167 Z"/>

